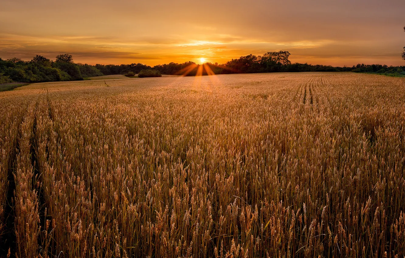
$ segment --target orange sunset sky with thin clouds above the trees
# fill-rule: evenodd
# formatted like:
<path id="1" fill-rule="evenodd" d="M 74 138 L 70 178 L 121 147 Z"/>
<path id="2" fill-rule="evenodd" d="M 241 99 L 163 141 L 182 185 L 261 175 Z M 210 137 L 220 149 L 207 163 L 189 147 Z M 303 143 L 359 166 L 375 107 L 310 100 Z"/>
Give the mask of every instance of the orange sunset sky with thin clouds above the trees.
<path id="1" fill-rule="evenodd" d="M 404 0 L 0 0 L 0 57 L 89 64 L 290 61 L 405 65 Z"/>

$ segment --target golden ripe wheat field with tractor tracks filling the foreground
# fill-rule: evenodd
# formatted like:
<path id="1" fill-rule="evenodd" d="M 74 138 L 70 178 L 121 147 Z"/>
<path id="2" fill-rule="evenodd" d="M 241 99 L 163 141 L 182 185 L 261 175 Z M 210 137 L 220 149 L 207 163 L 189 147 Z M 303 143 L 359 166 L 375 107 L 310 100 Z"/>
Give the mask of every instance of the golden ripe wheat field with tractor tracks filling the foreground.
<path id="1" fill-rule="evenodd" d="M 0 93 L 0 253 L 404 256 L 402 78 L 103 79 Z"/>

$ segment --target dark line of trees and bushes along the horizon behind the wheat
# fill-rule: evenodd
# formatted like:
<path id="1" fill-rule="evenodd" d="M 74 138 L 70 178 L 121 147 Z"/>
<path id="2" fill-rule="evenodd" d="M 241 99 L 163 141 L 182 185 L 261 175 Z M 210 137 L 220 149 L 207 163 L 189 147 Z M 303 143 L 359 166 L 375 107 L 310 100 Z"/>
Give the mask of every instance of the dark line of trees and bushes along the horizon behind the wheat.
<path id="1" fill-rule="evenodd" d="M 405 30 L 405 27 L 404 27 Z M 405 50 L 405 47 L 404 47 Z M 394 76 L 405 76 L 405 66 L 384 66 L 379 64 L 358 64 L 352 67 L 334 67 L 291 63 L 288 51 L 267 52 L 262 56 L 246 55 L 232 59 L 224 64 L 205 63 L 204 68 L 192 61 L 147 66 L 142 63 L 95 66 L 74 63 L 72 55 L 57 55 L 55 61 L 36 55 L 31 61 L 19 58 L 3 60 L 0 58 L 0 84 L 7 82 L 53 82 L 84 80 L 87 77 L 111 74 L 139 74 L 142 70 L 156 70 L 168 75 L 207 75 L 207 74 L 244 74 L 264 72 L 367 72 Z M 402 53 L 405 59 L 405 51 Z M 200 73 L 200 74 L 199 74 Z"/>

